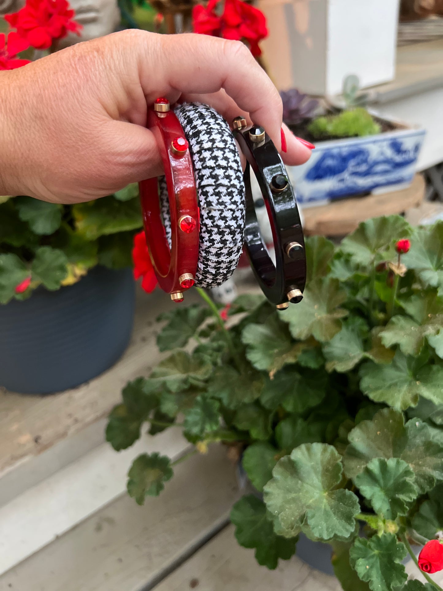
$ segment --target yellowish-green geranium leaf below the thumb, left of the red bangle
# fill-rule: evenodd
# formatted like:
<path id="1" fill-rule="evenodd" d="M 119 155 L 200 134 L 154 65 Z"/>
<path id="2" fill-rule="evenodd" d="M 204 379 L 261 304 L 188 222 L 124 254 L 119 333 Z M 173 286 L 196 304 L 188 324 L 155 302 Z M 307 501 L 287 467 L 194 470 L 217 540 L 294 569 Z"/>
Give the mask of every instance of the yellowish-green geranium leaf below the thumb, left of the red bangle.
<path id="1" fill-rule="evenodd" d="M 72 207 L 76 228 L 88 240 L 99 236 L 135 230 L 142 226 L 138 199 L 119 201 L 111 195 Z"/>

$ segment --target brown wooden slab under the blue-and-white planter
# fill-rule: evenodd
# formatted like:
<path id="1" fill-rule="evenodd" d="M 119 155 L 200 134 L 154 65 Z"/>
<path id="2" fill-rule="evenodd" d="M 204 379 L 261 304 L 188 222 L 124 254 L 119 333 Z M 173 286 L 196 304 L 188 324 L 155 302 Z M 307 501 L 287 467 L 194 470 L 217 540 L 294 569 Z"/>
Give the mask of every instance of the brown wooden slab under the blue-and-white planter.
<path id="1" fill-rule="evenodd" d="M 305 207 L 304 232 L 308 236 L 344 236 L 370 217 L 392 215 L 418 207 L 425 196 L 425 181 L 416 174 L 408 189 L 390 193 L 350 197 L 318 207 Z"/>

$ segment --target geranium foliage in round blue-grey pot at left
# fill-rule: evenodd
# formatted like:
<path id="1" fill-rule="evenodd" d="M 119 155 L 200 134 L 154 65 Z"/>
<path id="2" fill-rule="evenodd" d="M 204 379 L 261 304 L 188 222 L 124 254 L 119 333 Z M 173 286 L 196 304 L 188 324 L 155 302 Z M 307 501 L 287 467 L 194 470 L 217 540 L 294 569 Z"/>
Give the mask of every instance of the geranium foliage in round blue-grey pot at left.
<path id="1" fill-rule="evenodd" d="M 0 385 L 75 387 L 108 369 L 131 336 L 138 187 L 76 205 L 0 200 Z"/>

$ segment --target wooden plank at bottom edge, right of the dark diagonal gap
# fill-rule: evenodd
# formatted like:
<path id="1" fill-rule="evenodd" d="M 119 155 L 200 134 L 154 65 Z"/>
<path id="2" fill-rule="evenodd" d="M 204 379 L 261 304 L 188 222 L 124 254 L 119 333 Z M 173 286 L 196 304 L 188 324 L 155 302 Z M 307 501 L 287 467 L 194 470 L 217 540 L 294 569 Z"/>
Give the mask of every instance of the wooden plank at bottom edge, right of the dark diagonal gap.
<path id="1" fill-rule="evenodd" d="M 145 587 L 144 591 L 148 589 Z M 338 591 L 341 586 L 334 577 L 311 569 L 297 557 L 281 560 L 273 571 L 258 566 L 253 550 L 246 550 L 237 544 L 234 528 L 229 525 L 154 589 Z"/>

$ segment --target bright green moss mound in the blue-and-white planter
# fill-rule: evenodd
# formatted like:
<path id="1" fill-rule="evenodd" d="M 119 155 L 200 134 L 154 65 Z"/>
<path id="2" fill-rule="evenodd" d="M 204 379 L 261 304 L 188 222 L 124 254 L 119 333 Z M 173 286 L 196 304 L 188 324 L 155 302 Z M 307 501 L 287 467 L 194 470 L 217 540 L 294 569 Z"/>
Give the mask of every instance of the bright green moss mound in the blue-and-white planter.
<path id="1" fill-rule="evenodd" d="M 380 133 L 381 128 L 366 109 L 358 108 L 342 111 L 338 115 L 318 117 L 308 125 L 308 131 L 319 139 L 323 137 L 351 138 L 376 135 Z"/>

